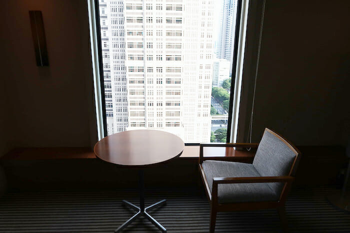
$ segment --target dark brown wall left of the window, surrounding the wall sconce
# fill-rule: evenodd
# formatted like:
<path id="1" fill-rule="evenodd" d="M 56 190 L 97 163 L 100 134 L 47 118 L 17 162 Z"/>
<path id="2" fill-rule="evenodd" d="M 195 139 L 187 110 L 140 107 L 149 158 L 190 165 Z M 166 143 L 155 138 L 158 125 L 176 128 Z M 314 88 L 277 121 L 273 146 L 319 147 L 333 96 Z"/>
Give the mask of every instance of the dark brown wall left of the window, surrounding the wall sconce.
<path id="1" fill-rule="evenodd" d="M 42 11 L 48 67 L 36 66 L 28 10 Z M 93 98 L 86 1 L 10 0 L 2 3 L 1 11 L 9 147 L 90 146 Z"/>

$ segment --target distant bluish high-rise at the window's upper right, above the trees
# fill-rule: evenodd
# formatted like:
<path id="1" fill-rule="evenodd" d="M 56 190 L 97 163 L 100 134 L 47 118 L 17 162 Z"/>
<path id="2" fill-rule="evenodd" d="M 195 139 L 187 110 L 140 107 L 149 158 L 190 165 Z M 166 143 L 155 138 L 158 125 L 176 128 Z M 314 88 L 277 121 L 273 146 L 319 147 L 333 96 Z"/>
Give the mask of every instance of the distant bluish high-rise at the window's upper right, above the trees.
<path id="1" fill-rule="evenodd" d="M 216 44 L 216 57 L 232 61 L 237 0 L 221 0 L 220 28 Z"/>

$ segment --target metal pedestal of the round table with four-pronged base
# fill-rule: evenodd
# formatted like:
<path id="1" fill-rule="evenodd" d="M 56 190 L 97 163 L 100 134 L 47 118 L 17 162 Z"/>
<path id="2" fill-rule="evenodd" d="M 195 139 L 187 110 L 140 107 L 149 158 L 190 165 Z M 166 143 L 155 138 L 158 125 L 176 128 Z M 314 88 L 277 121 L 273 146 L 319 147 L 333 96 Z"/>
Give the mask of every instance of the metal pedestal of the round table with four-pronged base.
<path id="1" fill-rule="evenodd" d="M 161 226 L 155 219 L 153 219 L 152 216 L 150 216 L 147 211 L 150 211 L 156 207 L 160 207 L 166 204 L 166 200 L 161 200 L 160 202 L 154 203 L 153 205 L 150 205 L 147 208 L 144 208 L 144 175 L 143 175 L 143 169 L 140 169 L 138 171 L 138 180 L 139 180 L 139 192 L 140 192 L 140 207 L 137 207 L 133 205 L 132 203 L 122 200 L 123 204 L 135 211 L 137 213 L 132 216 L 129 220 L 127 220 L 125 223 L 123 223 L 118 229 L 115 230 L 115 233 L 121 232 L 124 228 L 126 228 L 129 224 L 131 224 L 134 220 L 138 219 L 139 217 L 143 216 L 149 220 L 154 226 L 156 226 L 161 232 L 165 233 L 166 229 Z"/>

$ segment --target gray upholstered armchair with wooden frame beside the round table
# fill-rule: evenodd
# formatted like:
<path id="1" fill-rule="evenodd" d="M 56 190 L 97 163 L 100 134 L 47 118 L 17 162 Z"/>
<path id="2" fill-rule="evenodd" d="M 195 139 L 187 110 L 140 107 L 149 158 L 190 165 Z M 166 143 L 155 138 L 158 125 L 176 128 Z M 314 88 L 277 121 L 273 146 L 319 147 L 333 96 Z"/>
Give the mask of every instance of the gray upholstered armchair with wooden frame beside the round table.
<path id="1" fill-rule="evenodd" d="M 205 160 L 203 147 L 256 148 L 252 164 Z M 300 158 L 287 140 L 265 129 L 259 144 L 201 144 L 199 169 L 210 202 L 210 232 L 216 213 L 276 209 L 286 231 L 284 203 Z"/>

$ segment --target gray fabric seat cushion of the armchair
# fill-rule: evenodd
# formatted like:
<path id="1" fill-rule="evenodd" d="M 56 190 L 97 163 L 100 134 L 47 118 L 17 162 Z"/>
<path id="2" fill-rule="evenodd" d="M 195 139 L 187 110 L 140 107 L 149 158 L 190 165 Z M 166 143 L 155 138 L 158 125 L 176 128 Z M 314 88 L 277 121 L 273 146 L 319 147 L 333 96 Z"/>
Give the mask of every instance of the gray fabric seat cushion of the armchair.
<path id="1" fill-rule="evenodd" d="M 260 177 L 252 164 L 206 160 L 202 167 L 210 192 L 214 177 Z M 221 204 L 278 200 L 267 183 L 218 184 L 217 197 Z"/>

